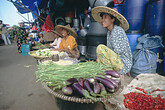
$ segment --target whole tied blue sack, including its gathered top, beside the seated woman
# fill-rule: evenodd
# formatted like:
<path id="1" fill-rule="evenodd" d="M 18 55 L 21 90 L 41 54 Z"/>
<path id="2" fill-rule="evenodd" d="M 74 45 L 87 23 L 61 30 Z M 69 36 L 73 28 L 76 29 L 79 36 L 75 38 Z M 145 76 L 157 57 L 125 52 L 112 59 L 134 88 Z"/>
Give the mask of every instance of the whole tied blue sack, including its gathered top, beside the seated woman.
<path id="1" fill-rule="evenodd" d="M 133 52 L 133 66 L 131 68 L 133 77 L 142 73 L 156 73 L 157 55 L 152 50 L 158 47 L 163 47 L 160 36 L 145 34 L 138 38 L 138 44 Z"/>

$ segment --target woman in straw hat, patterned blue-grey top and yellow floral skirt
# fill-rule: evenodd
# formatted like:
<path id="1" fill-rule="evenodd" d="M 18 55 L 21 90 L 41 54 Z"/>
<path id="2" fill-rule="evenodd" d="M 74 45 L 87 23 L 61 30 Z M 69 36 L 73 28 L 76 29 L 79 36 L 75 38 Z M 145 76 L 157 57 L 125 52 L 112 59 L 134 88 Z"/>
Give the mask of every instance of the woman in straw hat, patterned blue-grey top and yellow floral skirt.
<path id="1" fill-rule="evenodd" d="M 93 8 L 92 16 L 108 29 L 107 46 L 100 44 L 97 47 L 97 61 L 109 65 L 120 74 L 129 73 L 132 67 L 132 53 L 125 33 L 129 29 L 127 20 L 113 7 L 107 6 Z"/>

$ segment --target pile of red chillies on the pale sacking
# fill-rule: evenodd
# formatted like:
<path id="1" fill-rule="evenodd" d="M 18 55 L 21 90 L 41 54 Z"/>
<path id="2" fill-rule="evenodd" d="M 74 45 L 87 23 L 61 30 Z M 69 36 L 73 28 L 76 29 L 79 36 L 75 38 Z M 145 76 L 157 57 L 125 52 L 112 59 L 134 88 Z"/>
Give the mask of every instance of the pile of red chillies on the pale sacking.
<path id="1" fill-rule="evenodd" d="M 165 110 L 165 98 L 162 98 L 160 94 L 157 97 L 152 97 L 151 94 L 155 91 L 165 91 L 156 89 L 152 92 L 146 92 L 142 88 L 136 87 L 135 89 L 143 92 L 130 92 L 124 94 L 124 105 L 130 110 Z"/>

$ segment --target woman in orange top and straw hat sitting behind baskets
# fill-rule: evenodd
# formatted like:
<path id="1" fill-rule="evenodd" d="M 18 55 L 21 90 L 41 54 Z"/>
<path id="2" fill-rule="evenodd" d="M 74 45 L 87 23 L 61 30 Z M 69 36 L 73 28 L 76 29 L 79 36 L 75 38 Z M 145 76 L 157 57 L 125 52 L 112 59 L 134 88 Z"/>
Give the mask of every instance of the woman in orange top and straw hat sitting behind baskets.
<path id="1" fill-rule="evenodd" d="M 61 40 L 59 48 L 53 50 L 65 52 L 71 58 L 79 58 L 80 53 L 77 48 L 77 42 L 75 39 L 75 37 L 77 37 L 76 32 L 71 29 L 70 25 L 57 25 L 55 27 L 55 30 L 57 32 L 60 32 L 63 38 Z"/>

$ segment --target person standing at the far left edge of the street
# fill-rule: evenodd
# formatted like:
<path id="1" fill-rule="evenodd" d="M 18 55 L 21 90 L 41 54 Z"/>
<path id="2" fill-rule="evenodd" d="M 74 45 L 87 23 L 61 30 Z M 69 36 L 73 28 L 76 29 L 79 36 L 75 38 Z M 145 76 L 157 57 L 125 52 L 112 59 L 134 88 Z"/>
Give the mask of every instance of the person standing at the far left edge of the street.
<path id="1" fill-rule="evenodd" d="M 11 41 L 9 40 L 9 33 L 7 30 L 7 27 L 5 24 L 3 24 L 2 20 L 0 20 L 0 30 L 1 30 L 1 34 L 2 34 L 2 39 L 5 43 L 5 45 L 10 45 Z"/>

